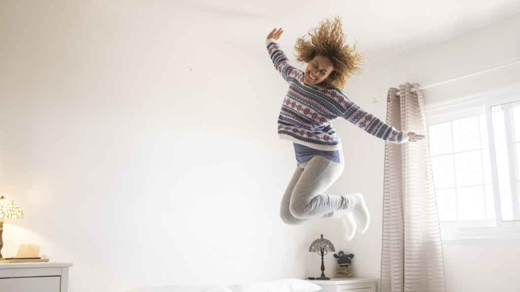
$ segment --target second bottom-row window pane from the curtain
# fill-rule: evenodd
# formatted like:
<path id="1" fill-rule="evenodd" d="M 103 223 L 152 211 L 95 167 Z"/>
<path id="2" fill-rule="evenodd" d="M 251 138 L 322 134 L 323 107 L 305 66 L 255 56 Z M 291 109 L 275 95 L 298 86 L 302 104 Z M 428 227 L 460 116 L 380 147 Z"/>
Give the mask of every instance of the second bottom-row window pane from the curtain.
<path id="1" fill-rule="evenodd" d="M 484 220 L 484 187 L 457 189 L 459 220 Z"/>

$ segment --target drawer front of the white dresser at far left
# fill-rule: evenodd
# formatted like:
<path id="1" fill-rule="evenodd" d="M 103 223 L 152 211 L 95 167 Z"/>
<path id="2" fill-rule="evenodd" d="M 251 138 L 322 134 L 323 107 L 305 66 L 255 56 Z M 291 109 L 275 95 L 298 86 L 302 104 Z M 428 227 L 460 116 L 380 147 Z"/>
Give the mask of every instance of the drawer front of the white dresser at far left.
<path id="1" fill-rule="evenodd" d="M 60 280 L 60 277 L 0 278 L 0 287 L 9 292 L 60 292 Z"/>

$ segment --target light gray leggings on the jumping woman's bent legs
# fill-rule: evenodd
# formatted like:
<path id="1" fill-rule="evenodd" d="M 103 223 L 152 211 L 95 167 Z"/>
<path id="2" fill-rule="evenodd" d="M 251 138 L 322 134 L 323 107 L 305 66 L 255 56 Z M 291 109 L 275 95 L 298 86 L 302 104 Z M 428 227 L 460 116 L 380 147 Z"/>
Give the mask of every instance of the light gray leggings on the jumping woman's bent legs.
<path id="1" fill-rule="evenodd" d="M 345 209 L 347 200 L 341 195 L 324 192 L 338 179 L 345 164 L 323 156 L 314 156 L 297 167 L 282 197 L 280 217 L 285 224 L 301 224 L 314 218 L 331 217 L 335 210 Z"/>

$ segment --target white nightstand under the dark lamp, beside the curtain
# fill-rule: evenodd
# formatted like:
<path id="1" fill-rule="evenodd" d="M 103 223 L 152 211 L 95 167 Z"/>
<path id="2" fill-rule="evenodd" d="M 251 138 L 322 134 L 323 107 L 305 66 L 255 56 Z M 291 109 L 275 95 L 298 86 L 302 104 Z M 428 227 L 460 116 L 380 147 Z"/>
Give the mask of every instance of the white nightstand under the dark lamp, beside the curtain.
<path id="1" fill-rule="evenodd" d="M 331 280 L 307 280 L 321 286 L 320 292 L 375 292 L 378 278 L 332 278 Z"/>

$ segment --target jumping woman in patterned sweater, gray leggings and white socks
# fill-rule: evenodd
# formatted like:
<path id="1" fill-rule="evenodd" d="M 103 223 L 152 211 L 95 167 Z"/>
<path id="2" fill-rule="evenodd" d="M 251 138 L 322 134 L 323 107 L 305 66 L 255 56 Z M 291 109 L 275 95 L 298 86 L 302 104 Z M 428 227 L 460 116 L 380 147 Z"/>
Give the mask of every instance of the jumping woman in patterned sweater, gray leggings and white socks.
<path id="1" fill-rule="evenodd" d="M 362 110 L 341 91 L 349 76 L 359 72 L 363 60 L 355 46 L 345 44 L 341 20 L 323 20 L 298 38 L 296 59 L 307 63 L 304 71 L 289 64 L 277 43 L 282 29 L 267 35 L 267 50 L 276 70 L 289 83 L 289 91 L 278 117 L 278 134 L 294 145 L 297 167 L 282 197 L 280 216 L 287 224 L 301 224 L 315 218 L 341 218 L 346 239 L 356 230 L 365 233 L 370 215 L 365 199 L 358 193 L 326 194 L 343 172 L 340 137 L 331 122 L 337 117 L 369 134 L 392 143 L 424 138 L 414 132 L 398 131 L 378 117 Z"/>

